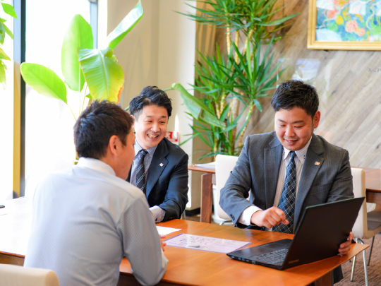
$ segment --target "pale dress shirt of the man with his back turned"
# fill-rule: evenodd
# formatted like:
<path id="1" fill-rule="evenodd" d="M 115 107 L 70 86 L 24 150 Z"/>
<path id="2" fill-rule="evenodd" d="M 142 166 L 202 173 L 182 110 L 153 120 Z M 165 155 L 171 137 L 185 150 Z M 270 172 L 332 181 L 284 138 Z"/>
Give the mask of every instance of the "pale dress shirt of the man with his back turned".
<path id="1" fill-rule="evenodd" d="M 40 182 L 25 267 L 52 269 L 63 286 L 117 285 L 123 256 L 143 285 L 157 284 L 167 268 L 140 189 L 84 157 Z"/>

